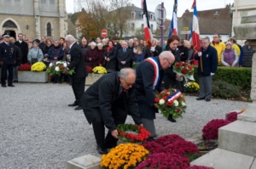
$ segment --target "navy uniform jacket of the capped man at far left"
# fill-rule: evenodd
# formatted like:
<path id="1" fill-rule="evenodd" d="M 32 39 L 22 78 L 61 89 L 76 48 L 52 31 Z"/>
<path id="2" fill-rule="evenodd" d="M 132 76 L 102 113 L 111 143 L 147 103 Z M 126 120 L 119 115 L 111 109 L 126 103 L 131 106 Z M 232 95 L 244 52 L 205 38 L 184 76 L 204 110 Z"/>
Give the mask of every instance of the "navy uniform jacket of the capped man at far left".
<path id="1" fill-rule="evenodd" d="M 15 45 L 9 42 L 9 46 L 2 42 L 0 44 L 0 62 L 4 65 L 14 65 L 16 61 Z"/>

